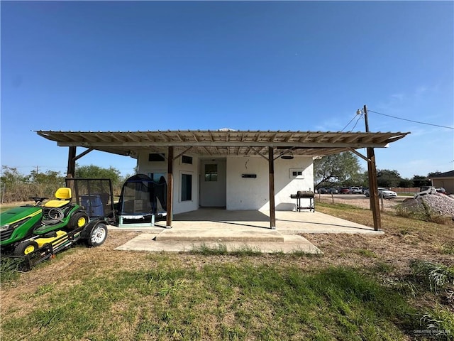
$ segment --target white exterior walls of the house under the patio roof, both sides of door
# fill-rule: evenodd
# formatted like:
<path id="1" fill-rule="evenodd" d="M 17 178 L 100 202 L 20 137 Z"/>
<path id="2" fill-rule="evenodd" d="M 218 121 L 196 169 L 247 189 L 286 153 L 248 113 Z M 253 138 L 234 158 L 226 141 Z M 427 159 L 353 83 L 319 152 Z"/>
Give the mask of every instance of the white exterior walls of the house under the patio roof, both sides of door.
<path id="1" fill-rule="evenodd" d="M 191 156 L 190 154 L 187 154 Z M 182 158 L 173 166 L 173 213 L 189 212 L 199 208 L 199 176 L 201 160 L 192 156 L 192 164 L 182 163 Z M 294 176 L 296 172 L 296 176 Z M 138 173 L 164 173 L 167 180 L 167 161 L 148 161 L 148 153 L 138 157 Z M 182 201 L 182 174 L 192 175 L 192 200 Z M 261 156 L 228 156 L 226 158 L 226 209 L 269 210 L 268 161 Z M 256 178 L 243 178 L 243 174 L 255 174 Z M 203 174 L 202 174 L 203 175 Z M 298 190 L 314 190 L 314 166 L 311 157 L 295 156 L 292 160 L 275 160 L 275 207 L 276 210 L 295 210 L 296 200 L 291 194 Z M 309 206 L 309 199 L 301 200 Z"/>

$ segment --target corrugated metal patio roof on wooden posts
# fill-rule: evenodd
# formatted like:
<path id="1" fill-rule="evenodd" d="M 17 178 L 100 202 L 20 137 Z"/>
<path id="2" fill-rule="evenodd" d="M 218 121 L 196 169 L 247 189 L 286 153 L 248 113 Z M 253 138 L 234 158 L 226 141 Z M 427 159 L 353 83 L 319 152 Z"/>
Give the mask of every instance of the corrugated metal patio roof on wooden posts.
<path id="1" fill-rule="evenodd" d="M 201 156 L 253 156 L 291 150 L 294 155 L 325 156 L 358 148 L 384 148 L 406 133 L 331 131 L 35 131 L 58 146 L 80 146 L 136 157 L 140 151 L 162 153 L 174 146 L 176 153 Z M 190 149 L 188 149 L 191 147 Z"/>

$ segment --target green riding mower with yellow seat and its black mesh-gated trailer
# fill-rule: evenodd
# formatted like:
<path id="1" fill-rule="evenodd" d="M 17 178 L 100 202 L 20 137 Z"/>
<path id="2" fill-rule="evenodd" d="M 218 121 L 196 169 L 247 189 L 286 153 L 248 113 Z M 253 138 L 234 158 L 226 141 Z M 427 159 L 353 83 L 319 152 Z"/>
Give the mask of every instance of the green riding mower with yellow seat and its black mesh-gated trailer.
<path id="1" fill-rule="evenodd" d="M 103 244 L 107 225 L 116 219 L 110 179 L 67 178 L 55 200 L 31 199 L 34 205 L 0 214 L 1 257 L 20 259 L 22 269 L 79 241 L 90 247 Z"/>

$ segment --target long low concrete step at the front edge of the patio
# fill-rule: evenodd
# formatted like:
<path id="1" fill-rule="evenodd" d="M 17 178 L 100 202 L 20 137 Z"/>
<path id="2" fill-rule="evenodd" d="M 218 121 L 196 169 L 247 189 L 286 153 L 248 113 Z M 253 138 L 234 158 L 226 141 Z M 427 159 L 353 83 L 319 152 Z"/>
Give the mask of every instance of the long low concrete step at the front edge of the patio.
<path id="1" fill-rule="evenodd" d="M 276 230 L 258 229 L 231 230 L 222 229 L 166 229 L 157 234 L 157 242 L 273 242 L 283 243 L 284 236 Z"/>

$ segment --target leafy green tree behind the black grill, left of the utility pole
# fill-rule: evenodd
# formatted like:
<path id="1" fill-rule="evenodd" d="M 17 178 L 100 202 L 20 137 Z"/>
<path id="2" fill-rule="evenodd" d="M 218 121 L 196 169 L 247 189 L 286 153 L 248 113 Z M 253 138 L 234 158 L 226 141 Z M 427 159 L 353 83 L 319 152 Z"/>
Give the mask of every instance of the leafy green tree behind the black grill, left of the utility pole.
<path id="1" fill-rule="evenodd" d="M 315 187 L 321 183 L 355 185 L 361 182 L 362 169 L 358 158 L 350 151 L 316 158 L 314 160 Z"/>

